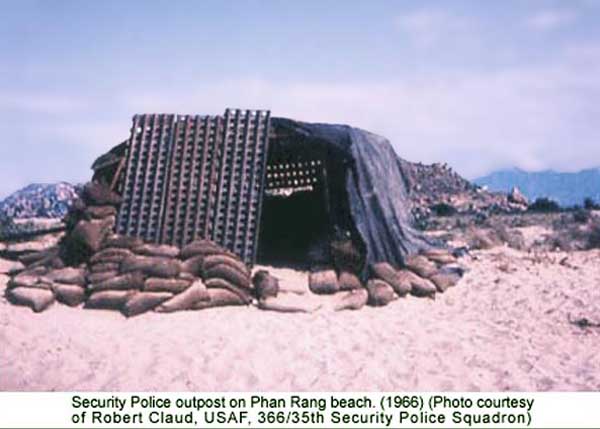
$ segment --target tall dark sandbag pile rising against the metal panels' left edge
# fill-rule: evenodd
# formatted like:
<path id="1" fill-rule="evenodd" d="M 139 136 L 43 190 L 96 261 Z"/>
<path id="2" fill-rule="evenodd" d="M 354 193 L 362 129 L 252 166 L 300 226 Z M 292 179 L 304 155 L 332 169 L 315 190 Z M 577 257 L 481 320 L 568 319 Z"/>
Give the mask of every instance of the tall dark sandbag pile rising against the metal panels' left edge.
<path id="1" fill-rule="evenodd" d="M 105 185 L 90 182 L 84 186 L 81 199 L 65 218 L 67 233 L 61 250 L 69 265 L 86 262 L 102 248 L 115 226 L 120 203 L 121 197 Z"/>

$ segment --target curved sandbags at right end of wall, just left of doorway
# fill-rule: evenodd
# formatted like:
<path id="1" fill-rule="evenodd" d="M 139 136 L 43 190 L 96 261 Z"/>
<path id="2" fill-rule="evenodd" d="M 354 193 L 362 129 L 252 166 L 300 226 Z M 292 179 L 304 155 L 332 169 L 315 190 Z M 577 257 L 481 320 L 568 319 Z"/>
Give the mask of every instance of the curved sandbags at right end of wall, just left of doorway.
<path id="1" fill-rule="evenodd" d="M 223 305 L 248 305 L 254 296 L 251 274 L 235 254 L 212 241 L 196 240 L 181 249 L 184 273 L 202 278 L 210 299 L 198 309 Z"/>

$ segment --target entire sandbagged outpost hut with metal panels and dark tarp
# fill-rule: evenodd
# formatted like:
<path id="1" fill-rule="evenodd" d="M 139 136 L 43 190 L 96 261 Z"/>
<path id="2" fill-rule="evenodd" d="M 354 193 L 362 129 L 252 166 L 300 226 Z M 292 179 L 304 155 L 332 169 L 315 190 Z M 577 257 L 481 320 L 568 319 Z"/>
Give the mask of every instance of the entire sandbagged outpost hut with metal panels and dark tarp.
<path id="1" fill-rule="evenodd" d="M 387 140 L 273 122 L 240 110 L 136 116 L 130 139 L 94 163 L 60 243 L 19 257 L 7 298 L 36 312 L 59 301 L 128 317 L 316 309 L 268 271 L 252 276 L 257 262 L 301 263 L 310 292 L 333 295 L 335 310 L 434 297 L 460 280 L 452 252 L 413 229 Z"/>

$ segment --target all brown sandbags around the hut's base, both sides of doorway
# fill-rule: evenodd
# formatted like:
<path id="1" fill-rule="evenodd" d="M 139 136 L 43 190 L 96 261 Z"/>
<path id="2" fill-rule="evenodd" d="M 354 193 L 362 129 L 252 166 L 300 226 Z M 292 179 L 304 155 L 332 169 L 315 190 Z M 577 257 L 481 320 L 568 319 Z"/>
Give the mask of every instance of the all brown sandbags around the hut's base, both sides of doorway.
<path id="1" fill-rule="evenodd" d="M 287 300 L 277 278 L 264 269 L 251 276 L 237 255 L 210 240 L 179 248 L 114 234 L 119 202 L 110 189 L 88 183 L 65 219 L 68 229 L 59 245 L 19 257 L 22 268 L 8 283 L 9 301 L 35 312 L 58 301 L 128 317 L 250 304 L 282 312 L 316 309 Z M 335 310 L 383 306 L 408 294 L 433 297 L 462 275 L 449 251 L 431 249 L 407 258 L 402 269 L 372 264 L 363 282 L 361 256 L 349 241 L 332 243 L 330 251 L 334 265 L 315 267 L 308 286 L 314 294 L 334 295 Z"/>

